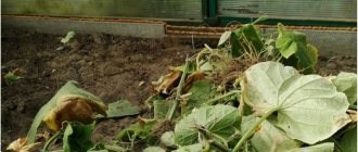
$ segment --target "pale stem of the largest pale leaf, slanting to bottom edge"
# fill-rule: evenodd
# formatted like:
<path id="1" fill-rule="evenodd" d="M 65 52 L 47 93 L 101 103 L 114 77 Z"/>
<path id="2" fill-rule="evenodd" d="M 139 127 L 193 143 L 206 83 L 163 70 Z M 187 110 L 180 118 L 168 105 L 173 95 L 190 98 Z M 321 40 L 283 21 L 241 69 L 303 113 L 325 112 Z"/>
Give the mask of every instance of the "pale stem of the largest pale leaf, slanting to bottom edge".
<path id="1" fill-rule="evenodd" d="M 268 116 L 270 116 L 272 113 L 278 111 L 280 107 L 273 107 L 270 109 L 265 115 L 263 115 L 240 139 L 240 141 L 236 143 L 236 145 L 233 148 L 233 152 L 238 152 L 240 150 L 240 147 L 246 141 L 247 138 L 250 138 L 252 135 L 255 134 L 256 126 L 260 125 Z"/>

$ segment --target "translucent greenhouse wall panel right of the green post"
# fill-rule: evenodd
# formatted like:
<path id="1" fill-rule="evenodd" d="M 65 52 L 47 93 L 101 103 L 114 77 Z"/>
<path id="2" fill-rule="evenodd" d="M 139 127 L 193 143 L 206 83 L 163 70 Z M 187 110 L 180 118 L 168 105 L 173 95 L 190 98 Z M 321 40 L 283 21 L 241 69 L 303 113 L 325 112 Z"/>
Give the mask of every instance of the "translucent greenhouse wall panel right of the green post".
<path id="1" fill-rule="evenodd" d="M 357 0 L 218 0 L 218 15 L 356 22 Z"/>

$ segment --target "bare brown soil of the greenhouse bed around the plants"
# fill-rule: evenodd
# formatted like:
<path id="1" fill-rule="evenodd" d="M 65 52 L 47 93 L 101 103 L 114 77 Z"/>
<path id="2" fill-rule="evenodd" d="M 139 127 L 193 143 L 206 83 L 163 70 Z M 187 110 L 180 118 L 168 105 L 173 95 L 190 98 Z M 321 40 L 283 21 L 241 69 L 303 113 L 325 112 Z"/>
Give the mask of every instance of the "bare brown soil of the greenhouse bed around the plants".
<path id="1" fill-rule="evenodd" d="M 111 103 L 127 99 L 142 106 L 151 81 L 184 63 L 203 43 L 213 41 L 177 38 L 144 39 L 103 34 L 76 35 L 67 45 L 63 36 L 2 28 L 1 33 L 1 151 L 25 137 L 39 109 L 67 80 L 77 80 L 87 91 Z M 61 49 L 62 48 L 62 49 Z M 318 73 L 356 72 L 356 56 L 320 56 Z M 3 75 L 16 71 L 22 79 L 7 85 Z M 139 84 L 144 81 L 142 86 Z M 100 122 L 95 141 L 108 141 L 136 118 Z"/>

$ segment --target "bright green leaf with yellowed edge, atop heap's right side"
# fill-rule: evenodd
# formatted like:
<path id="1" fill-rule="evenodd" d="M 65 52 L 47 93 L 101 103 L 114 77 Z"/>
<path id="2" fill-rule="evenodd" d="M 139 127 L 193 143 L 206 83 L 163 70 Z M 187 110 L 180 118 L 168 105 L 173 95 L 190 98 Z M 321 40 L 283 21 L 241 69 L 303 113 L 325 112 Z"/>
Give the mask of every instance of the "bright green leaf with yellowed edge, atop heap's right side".
<path id="1" fill-rule="evenodd" d="M 290 31 L 278 24 L 279 37 L 276 40 L 276 48 L 281 55 L 289 59 L 293 54 L 297 59 L 296 67 L 304 74 L 315 73 L 315 65 L 318 59 L 317 49 L 307 43 L 306 35 L 299 31 Z"/>

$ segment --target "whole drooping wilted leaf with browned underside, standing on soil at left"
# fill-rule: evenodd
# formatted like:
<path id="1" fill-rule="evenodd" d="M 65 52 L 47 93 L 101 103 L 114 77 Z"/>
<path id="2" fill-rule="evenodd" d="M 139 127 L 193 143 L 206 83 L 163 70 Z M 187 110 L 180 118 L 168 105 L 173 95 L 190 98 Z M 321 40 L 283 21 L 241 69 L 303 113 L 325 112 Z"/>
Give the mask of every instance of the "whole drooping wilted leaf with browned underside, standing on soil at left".
<path id="1" fill-rule="evenodd" d="M 41 125 L 42 121 L 49 124 L 49 128 L 55 130 L 60 128 L 61 125 L 59 125 L 59 122 L 62 119 L 76 121 L 77 117 L 80 117 L 87 121 L 84 117 L 92 115 L 89 112 L 98 112 L 105 115 L 105 105 L 102 100 L 79 88 L 77 81 L 69 80 L 36 114 L 27 134 L 28 142 L 35 142 L 37 128 Z"/>

